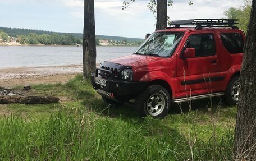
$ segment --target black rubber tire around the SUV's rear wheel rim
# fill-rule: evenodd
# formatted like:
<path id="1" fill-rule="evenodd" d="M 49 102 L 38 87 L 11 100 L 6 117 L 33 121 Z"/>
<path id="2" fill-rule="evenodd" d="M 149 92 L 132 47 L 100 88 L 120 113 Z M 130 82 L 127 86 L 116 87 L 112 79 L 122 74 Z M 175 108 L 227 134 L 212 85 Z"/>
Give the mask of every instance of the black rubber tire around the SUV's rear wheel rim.
<path id="1" fill-rule="evenodd" d="M 237 82 L 239 82 L 239 77 L 240 76 L 231 77 L 230 81 L 227 84 L 225 95 L 223 96 L 224 103 L 227 105 L 236 105 L 238 102 L 238 100 L 236 101 L 232 98 L 232 88 Z"/>

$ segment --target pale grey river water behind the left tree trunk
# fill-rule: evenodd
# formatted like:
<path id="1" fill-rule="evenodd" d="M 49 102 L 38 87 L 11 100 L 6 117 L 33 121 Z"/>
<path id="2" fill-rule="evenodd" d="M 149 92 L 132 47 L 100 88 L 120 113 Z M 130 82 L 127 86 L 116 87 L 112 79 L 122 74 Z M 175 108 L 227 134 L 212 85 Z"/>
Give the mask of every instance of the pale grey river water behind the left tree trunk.
<path id="1" fill-rule="evenodd" d="M 96 62 L 127 56 L 138 47 L 97 47 Z M 82 47 L 0 46 L 0 68 L 79 65 Z"/>

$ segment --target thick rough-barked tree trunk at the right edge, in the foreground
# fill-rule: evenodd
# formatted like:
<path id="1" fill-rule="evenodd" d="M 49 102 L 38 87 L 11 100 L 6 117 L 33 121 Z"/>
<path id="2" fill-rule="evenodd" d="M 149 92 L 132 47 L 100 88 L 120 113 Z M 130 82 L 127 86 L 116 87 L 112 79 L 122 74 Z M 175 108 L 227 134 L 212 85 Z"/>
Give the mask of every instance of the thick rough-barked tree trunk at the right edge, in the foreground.
<path id="1" fill-rule="evenodd" d="M 236 160 L 256 160 L 256 0 L 245 40 L 240 84 L 234 154 Z"/>

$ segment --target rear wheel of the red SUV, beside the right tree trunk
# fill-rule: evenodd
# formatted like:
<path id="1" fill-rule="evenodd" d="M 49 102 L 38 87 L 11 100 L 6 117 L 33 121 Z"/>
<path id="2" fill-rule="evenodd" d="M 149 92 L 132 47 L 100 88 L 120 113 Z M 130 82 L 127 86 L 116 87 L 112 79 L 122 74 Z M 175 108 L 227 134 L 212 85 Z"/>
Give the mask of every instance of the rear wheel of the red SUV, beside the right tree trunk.
<path id="1" fill-rule="evenodd" d="M 228 82 L 227 89 L 225 91 L 225 103 L 228 105 L 236 105 L 240 93 L 240 76 L 233 76 Z"/>

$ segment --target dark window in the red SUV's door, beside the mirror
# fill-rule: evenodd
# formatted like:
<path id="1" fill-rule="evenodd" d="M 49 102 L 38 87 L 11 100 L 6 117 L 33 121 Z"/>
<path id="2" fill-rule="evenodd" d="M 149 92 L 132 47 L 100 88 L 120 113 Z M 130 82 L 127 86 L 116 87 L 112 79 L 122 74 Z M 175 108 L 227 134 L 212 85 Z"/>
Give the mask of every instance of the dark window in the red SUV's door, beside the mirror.
<path id="1" fill-rule="evenodd" d="M 195 57 L 207 57 L 215 55 L 215 42 L 213 34 L 190 35 L 186 47 L 195 48 Z"/>

